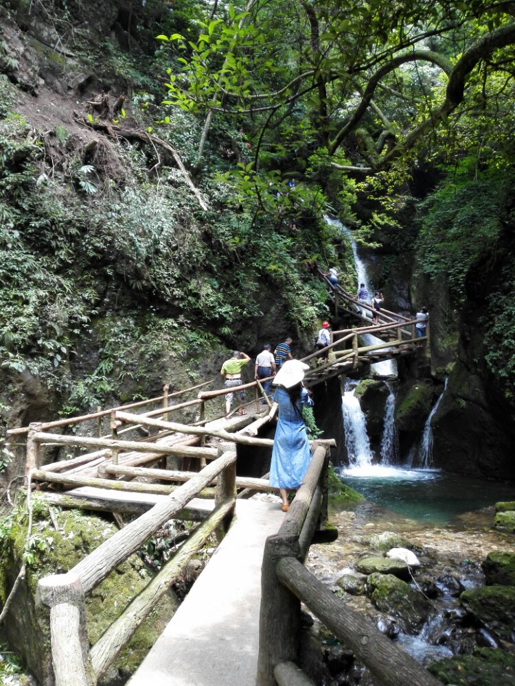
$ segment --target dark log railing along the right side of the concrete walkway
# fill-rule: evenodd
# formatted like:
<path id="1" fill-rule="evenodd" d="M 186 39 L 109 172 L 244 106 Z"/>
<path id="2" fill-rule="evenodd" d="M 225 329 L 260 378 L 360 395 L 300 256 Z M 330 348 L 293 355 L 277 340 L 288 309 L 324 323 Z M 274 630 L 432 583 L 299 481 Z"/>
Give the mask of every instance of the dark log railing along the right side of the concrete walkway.
<path id="1" fill-rule="evenodd" d="M 323 460 L 321 448 L 315 450 L 304 483 L 282 527 L 266 540 L 256 686 L 312 686 L 296 664 L 300 657 L 301 602 L 356 654 L 380 683 L 441 686 L 402 648 L 360 613 L 347 608 L 304 567 L 314 530 L 312 513 L 324 473 Z"/>

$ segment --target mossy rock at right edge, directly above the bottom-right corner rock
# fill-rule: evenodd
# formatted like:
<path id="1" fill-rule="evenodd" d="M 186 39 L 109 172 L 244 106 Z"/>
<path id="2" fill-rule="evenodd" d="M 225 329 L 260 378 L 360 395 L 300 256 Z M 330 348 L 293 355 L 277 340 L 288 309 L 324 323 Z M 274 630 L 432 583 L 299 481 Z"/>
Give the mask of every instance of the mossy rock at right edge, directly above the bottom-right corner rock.
<path id="1" fill-rule="evenodd" d="M 486 586 L 464 591 L 461 604 L 479 624 L 511 641 L 515 624 L 515 587 Z"/>

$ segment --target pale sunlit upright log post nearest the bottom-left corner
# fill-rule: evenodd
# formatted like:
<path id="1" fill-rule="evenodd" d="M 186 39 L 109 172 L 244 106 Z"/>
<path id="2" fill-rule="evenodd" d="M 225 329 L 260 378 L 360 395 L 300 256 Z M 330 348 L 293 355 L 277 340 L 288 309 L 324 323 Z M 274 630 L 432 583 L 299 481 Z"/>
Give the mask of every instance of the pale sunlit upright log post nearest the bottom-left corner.
<path id="1" fill-rule="evenodd" d="M 43 683 L 95 686 L 89 655 L 84 589 L 77 574 L 52 574 L 36 590 L 41 645 L 45 649 Z"/>

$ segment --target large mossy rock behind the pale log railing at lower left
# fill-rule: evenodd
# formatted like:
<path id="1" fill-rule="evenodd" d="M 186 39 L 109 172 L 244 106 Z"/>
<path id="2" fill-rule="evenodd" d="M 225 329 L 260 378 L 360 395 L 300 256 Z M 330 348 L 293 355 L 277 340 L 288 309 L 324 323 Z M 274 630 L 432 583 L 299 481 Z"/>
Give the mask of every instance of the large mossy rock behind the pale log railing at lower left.
<path id="1" fill-rule="evenodd" d="M 16 648 L 30 672 L 43 683 L 47 674 L 49 645 L 45 632 L 46 621 L 35 602 L 38 580 L 49 574 L 69 571 L 100 543 L 111 537 L 116 528 L 102 517 L 68 510 L 54 517 L 59 528 L 56 531 L 52 523 L 43 518 L 44 512 L 37 500 L 35 509 L 38 514 L 33 529 L 36 541 L 34 560 L 27 567 L 25 579 L 14 597 L 6 630 L 10 646 Z M 12 587 L 21 566 L 26 534 L 27 517 L 24 513 L 12 522 L 10 532 L 0 542 L 4 567 L 0 588 L 2 602 L 5 601 L 8 589 Z M 130 600 L 146 587 L 149 579 L 148 569 L 137 555 L 133 555 L 87 596 L 87 629 L 91 645 L 124 611 Z M 175 606 L 176 600 L 172 593 L 165 595 L 99 684 L 107 683 L 113 676 L 126 681 L 135 672 L 165 628 Z"/>

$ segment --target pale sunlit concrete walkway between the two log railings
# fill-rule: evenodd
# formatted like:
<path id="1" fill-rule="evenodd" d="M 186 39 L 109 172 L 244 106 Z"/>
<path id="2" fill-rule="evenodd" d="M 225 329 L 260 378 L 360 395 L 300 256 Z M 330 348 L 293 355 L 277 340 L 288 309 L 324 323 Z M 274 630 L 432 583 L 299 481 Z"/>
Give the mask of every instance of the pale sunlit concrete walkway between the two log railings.
<path id="1" fill-rule="evenodd" d="M 264 543 L 279 501 L 236 501 L 236 521 L 127 686 L 255 686 Z"/>

